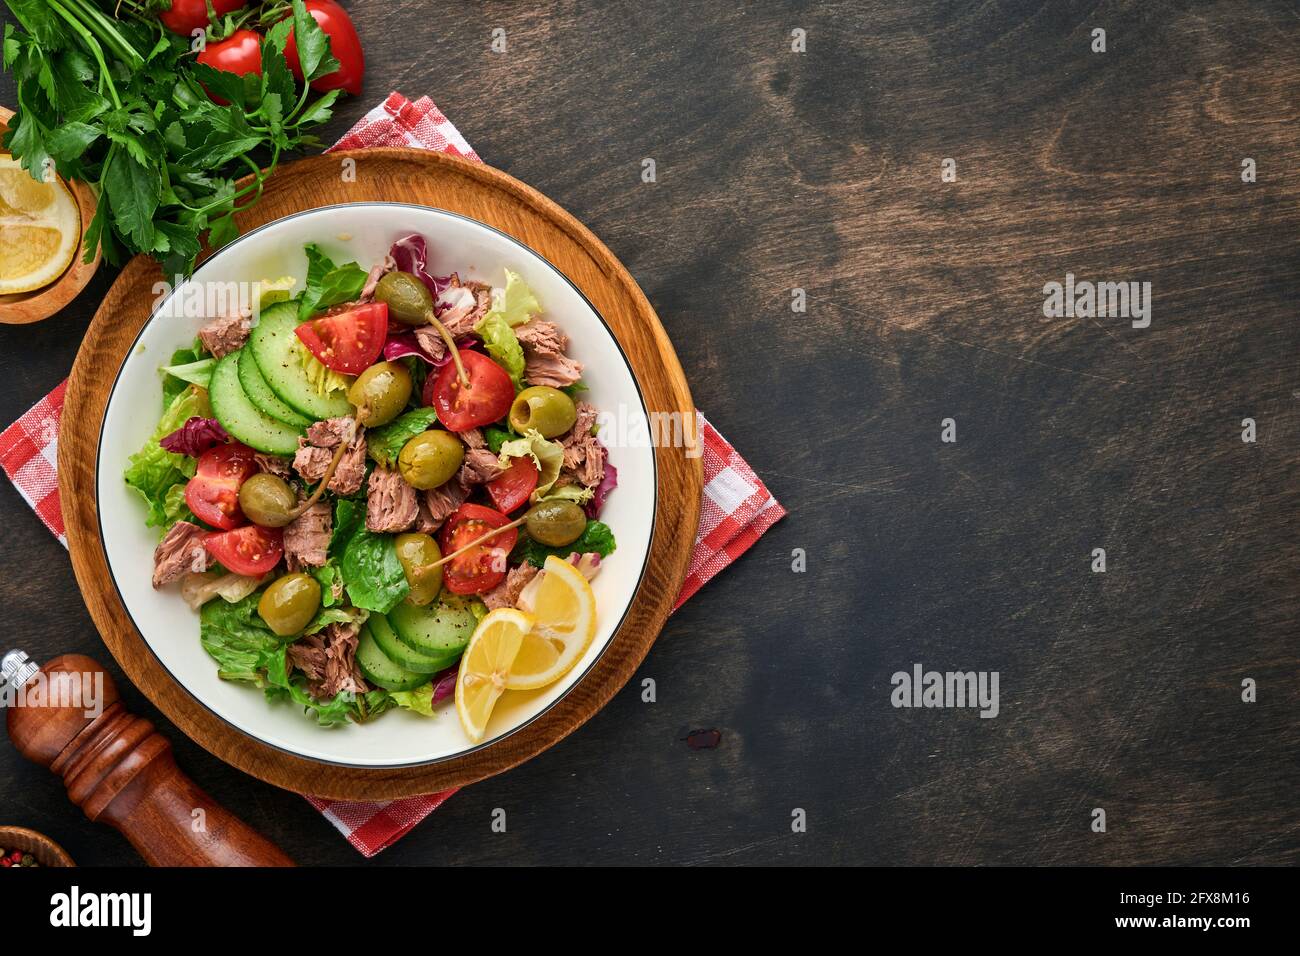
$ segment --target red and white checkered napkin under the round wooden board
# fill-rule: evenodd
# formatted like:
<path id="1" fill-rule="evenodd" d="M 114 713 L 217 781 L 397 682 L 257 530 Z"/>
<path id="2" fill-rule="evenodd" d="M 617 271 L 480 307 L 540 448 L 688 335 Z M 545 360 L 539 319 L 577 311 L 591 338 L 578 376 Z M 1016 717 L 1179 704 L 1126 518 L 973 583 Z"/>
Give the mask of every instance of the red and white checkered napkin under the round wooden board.
<path id="1" fill-rule="evenodd" d="M 399 92 L 372 109 L 332 150 L 369 146 L 411 146 L 441 150 L 481 161 L 455 126 L 421 96 L 413 103 Z M 64 381 L 13 425 L 0 432 L 0 467 L 36 515 L 68 546 L 58 506 L 58 415 Z M 690 570 L 673 610 L 753 545 L 785 509 L 703 415 L 705 497 Z M 381 803 L 352 803 L 307 797 L 365 856 L 393 845 L 411 827 L 442 805 L 454 790 Z"/>

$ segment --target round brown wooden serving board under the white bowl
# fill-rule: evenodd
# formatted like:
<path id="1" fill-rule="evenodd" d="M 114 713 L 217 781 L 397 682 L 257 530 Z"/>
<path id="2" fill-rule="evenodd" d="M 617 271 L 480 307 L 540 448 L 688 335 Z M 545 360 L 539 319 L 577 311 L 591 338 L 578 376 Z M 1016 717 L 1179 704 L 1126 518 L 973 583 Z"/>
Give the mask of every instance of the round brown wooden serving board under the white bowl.
<path id="1" fill-rule="evenodd" d="M 343 182 L 341 163 L 356 161 Z M 277 170 L 242 232 L 290 213 L 351 202 L 420 203 L 469 216 L 545 256 L 590 299 L 627 354 L 650 412 L 693 412 L 690 390 L 663 326 L 628 271 L 582 224 L 517 179 L 490 166 L 422 150 L 374 148 L 306 159 Z M 334 799 L 391 799 L 460 787 L 498 774 L 562 740 L 621 688 L 650 650 L 681 587 L 699 518 L 698 458 L 658 447 L 658 507 L 645 576 L 602 657 L 550 710 L 473 753 L 400 769 L 326 765 L 268 747 L 237 731 L 162 669 L 131 624 L 99 540 L 96 453 L 109 390 L 150 317 L 159 265 L 136 258 L 108 291 L 86 338 L 65 398 L 58 434 L 58 486 L 77 581 L 91 617 L 127 676 L 177 727 L 216 756 L 278 787 Z M 195 635 L 195 640 L 198 636 Z M 328 732 L 328 731 L 322 731 Z"/>

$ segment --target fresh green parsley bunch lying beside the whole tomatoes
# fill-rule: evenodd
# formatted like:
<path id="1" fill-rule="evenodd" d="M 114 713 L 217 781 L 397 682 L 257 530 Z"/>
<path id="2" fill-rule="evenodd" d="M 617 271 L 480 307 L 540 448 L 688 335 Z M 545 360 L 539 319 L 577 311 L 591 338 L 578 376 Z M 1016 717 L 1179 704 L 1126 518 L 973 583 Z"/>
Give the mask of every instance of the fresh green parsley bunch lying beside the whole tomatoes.
<path id="1" fill-rule="evenodd" d="M 168 276 L 188 274 L 204 232 L 212 248 L 238 234 L 234 212 L 257 200 L 281 153 L 321 144 L 309 130 L 341 92 L 308 101 L 308 83 L 339 64 L 303 0 L 266 30 L 261 77 L 196 62 L 187 38 L 150 16 L 117 18 L 96 0 L 4 1 L 21 25 L 4 31 L 18 88 L 4 148 L 34 178 L 52 165 L 96 189 L 87 261 L 96 247 L 114 264 L 143 252 Z M 285 60 L 290 31 L 302 83 Z"/>

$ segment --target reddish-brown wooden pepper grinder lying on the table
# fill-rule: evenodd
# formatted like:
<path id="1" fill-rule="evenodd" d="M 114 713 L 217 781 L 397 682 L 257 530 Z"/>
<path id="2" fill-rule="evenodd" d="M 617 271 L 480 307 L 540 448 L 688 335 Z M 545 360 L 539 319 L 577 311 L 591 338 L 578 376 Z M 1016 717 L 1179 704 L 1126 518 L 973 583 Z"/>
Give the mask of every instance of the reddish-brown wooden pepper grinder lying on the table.
<path id="1" fill-rule="evenodd" d="M 294 865 L 181 771 L 172 744 L 122 706 L 91 658 L 62 654 L 38 667 L 13 650 L 0 661 L 0 689 L 6 684 L 25 698 L 8 708 L 18 752 L 62 777 L 72 801 L 120 830 L 151 866 Z M 32 701 L 42 691 L 43 702 Z"/>

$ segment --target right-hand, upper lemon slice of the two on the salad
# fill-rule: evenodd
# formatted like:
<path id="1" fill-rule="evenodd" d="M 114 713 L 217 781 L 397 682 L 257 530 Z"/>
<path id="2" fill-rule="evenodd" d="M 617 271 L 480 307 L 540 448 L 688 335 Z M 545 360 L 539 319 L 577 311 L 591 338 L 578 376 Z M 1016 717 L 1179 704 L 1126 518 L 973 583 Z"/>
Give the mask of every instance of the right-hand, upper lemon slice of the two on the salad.
<path id="1" fill-rule="evenodd" d="M 595 594 L 573 564 L 554 554 L 546 559 L 542 579 L 521 596 L 533 615 L 533 630 L 524 635 L 506 679 L 511 691 L 546 687 L 569 672 L 595 637 Z"/>

